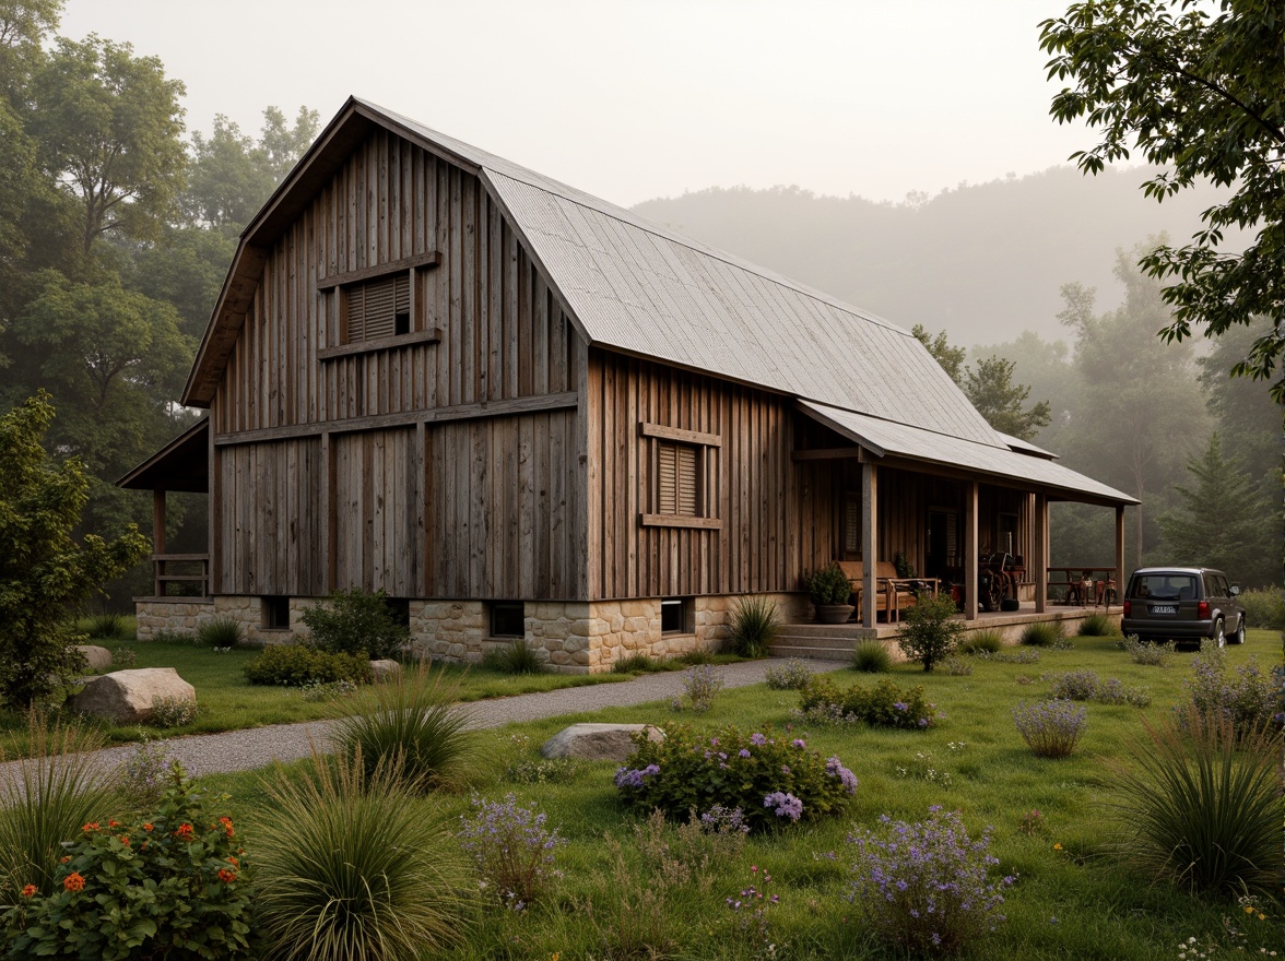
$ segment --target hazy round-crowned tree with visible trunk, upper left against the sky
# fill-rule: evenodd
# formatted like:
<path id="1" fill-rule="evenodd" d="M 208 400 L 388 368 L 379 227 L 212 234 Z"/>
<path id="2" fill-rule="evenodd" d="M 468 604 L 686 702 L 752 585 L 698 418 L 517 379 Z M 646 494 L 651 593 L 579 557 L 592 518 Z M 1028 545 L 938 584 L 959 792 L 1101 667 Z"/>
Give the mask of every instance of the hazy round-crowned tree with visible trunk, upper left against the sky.
<path id="1" fill-rule="evenodd" d="M 84 265 L 108 231 L 155 238 L 182 188 L 184 86 L 154 57 L 90 35 L 58 39 L 33 84 L 42 164 L 81 212 Z"/>

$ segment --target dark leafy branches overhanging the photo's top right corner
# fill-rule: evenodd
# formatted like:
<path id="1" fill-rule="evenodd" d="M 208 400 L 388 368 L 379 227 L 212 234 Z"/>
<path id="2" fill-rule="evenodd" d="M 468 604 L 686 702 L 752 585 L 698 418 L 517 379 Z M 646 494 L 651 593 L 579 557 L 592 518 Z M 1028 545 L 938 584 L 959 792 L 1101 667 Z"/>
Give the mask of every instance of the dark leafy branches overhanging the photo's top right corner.
<path id="1" fill-rule="evenodd" d="M 1216 9 L 1210 10 L 1209 6 Z M 1273 376 L 1285 351 L 1285 17 L 1279 0 L 1086 0 L 1040 24 L 1049 76 L 1069 80 L 1050 113 L 1087 119 L 1101 139 L 1072 154 L 1085 173 L 1130 157 L 1133 145 L 1168 168 L 1146 181 L 1156 200 L 1200 181 L 1230 199 L 1201 215 L 1204 229 L 1180 248 L 1156 245 L 1139 261 L 1173 306 L 1168 340 L 1225 334 L 1254 316 L 1270 329 L 1235 365 Z M 1228 227 L 1257 229 L 1244 253 L 1222 249 Z M 1285 400 L 1285 376 L 1272 384 Z"/>

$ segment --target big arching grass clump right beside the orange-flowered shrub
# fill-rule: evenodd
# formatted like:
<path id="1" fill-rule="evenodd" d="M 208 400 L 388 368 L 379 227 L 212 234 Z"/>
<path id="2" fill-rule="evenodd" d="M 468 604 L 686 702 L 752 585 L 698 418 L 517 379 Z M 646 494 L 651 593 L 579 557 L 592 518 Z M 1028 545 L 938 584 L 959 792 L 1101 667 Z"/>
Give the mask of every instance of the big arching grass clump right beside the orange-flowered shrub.
<path id="1" fill-rule="evenodd" d="M 411 961 L 468 926 L 468 867 L 445 821 L 360 763 L 267 785 L 256 920 L 265 957 Z"/>

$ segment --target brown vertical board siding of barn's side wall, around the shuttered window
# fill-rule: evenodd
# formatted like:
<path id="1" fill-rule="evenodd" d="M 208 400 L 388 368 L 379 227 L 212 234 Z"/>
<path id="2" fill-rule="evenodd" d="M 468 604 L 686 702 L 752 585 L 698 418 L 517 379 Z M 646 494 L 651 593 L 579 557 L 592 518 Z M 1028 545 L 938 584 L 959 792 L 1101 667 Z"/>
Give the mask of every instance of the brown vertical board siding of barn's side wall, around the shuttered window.
<path id="1" fill-rule="evenodd" d="M 790 591 L 833 556 L 837 465 L 792 461 L 792 401 L 601 351 L 587 391 L 590 599 Z M 640 424 L 721 438 L 705 452 L 717 529 L 640 523 L 654 483 Z"/>

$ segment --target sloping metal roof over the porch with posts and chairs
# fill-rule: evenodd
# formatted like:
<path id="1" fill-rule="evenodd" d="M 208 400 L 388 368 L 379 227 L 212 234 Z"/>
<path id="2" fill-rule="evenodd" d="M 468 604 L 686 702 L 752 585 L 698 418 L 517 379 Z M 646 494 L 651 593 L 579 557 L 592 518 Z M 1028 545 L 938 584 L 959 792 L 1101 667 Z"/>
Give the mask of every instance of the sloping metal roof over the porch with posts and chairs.
<path id="1" fill-rule="evenodd" d="M 1007 486 L 1029 487 L 1059 500 L 1105 506 L 1139 502 L 1136 497 L 1058 464 L 1046 451 L 1040 451 L 1038 447 L 1032 450 L 1032 445 L 1022 441 L 1014 439 L 1011 446 L 995 447 L 812 401 L 797 403 L 804 414 L 875 457 L 900 457 L 980 474 Z"/>

